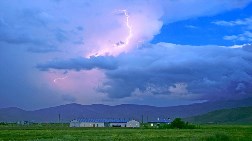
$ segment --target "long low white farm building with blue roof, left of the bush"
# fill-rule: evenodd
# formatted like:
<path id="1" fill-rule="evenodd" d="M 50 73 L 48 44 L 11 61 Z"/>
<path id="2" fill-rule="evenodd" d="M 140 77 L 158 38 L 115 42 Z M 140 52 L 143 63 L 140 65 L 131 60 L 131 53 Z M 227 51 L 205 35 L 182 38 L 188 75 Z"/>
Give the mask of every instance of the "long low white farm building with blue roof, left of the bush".
<path id="1" fill-rule="evenodd" d="M 122 119 L 75 119 L 70 122 L 70 127 L 140 127 L 136 120 Z"/>

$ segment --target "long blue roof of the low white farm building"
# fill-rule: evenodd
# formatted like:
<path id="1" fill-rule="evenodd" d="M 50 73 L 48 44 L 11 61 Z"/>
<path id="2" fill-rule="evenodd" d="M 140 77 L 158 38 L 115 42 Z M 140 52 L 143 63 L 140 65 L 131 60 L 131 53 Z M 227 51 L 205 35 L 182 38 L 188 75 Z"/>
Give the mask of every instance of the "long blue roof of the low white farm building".
<path id="1" fill-rule="evenodd" d="M 125 120 L 125 119 L 90 119 L 90 118 L 81 118 L 81 119 L 76 119 L 73 121 L 78 121 L 78 122 L 95 122 L 95 123 L 127 123 L 130 120 Z"/>

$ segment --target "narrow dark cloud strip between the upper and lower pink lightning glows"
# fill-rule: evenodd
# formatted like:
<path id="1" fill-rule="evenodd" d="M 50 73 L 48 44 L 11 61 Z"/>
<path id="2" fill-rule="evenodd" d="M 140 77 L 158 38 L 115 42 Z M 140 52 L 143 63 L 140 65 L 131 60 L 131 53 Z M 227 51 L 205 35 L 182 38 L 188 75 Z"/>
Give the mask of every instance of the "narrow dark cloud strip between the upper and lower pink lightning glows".
<path id="1" fill-rule="evenodd" d="M 91 56 L 90 58 L 72 58 L 69 60 L 54 60 L 45 64 L 38 64 L 37 68 L 43 71 L 48 69 L 60 70 L 91 70 L 94 68 L 113 70 L 116 69 L 117 62 L 112 56 Z"/>

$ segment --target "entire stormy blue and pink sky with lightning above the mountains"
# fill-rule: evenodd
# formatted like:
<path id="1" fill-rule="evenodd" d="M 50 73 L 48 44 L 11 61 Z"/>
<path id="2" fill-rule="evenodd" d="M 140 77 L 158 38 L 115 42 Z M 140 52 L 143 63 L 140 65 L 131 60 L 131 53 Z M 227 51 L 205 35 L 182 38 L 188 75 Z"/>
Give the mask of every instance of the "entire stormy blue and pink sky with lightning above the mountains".
<path id="1" fill-rule="evenodd" d="M 0 108 L 252 96 L 252 0 L 1 0 Z"/>

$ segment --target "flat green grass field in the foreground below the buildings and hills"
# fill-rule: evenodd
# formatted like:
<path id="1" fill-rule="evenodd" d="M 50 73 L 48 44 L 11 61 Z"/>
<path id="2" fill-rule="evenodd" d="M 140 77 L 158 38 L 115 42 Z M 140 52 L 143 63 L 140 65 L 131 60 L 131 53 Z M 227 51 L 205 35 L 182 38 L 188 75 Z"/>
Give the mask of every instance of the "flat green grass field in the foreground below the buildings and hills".
<path id="1" fill-rule="evenodd" d="M 201 125 L 197 129 L 0 126 L 0 141 L 252 141 L 252 125 Z"/>

